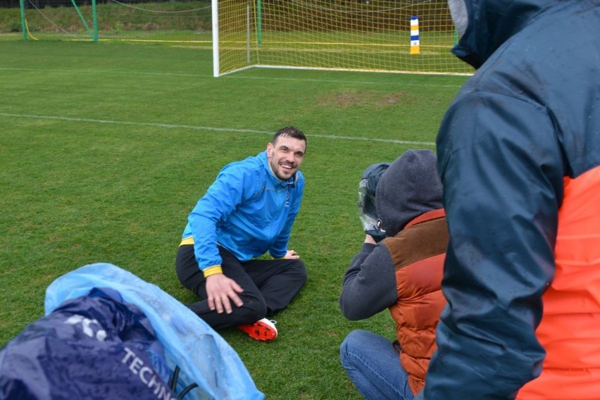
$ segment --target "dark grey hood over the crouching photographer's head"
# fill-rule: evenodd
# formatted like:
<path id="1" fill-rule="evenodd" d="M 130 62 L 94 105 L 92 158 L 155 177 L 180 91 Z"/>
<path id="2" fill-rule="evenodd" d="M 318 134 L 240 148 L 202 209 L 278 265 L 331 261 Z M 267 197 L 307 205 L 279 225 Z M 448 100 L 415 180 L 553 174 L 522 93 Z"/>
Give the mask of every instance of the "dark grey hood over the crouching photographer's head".
<path id="1" fill-rule="evenodd" d="M 408 150 L 381 175 L 375 207 L 382 229 L 395 236 L 427 211 L 442 208 L 442 182 L 431 150 Z"/>

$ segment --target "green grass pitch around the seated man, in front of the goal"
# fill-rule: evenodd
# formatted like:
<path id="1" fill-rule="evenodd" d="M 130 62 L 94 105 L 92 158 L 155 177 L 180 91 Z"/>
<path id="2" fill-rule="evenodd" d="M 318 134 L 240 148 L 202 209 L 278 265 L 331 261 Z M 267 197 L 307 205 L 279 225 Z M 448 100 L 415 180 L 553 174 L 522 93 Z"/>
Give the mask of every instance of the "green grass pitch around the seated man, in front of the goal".
<path id="1" fill-rule="evenodd" d="M 337 299 L 364 234 L 357 185 L 371 163 L 435 149 L 466 77 L 253 68 L 212 77 L 207 46 L 0 38 L 0 345 L 43 315 L 44 292 L 109 262 L 180 299 L 174 258 L 187 214 L 218 170 L 296 125 L 308 136 L 291 246 L 308 283 L 280 337 L 220 332 L 267 399 L 359 399 L 339 344 L 394 336 L 384 312 L 346 321 Z"/>

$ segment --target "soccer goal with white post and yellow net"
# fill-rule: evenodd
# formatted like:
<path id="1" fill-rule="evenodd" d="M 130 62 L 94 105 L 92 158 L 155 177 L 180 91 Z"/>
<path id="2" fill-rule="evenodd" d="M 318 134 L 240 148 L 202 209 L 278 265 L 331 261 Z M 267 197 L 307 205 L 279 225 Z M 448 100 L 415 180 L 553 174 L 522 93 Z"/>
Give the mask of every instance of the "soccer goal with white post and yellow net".
<path id="1" fill-rule="evenodd" d="M 446 0 L 213 0 L 213 75 L 249 67 L 471 74 Z"/>

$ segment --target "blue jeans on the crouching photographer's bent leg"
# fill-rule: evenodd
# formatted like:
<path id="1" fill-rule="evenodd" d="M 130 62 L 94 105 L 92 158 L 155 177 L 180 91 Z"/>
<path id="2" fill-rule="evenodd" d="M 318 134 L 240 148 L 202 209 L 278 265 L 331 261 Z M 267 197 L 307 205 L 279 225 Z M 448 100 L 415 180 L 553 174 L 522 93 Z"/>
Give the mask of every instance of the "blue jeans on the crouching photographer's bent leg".
<path id="1" fill-rule="evenodd" d="M 408 374 L 385 337 L 366 330 L 350 332 L 339 348 L 342 365 L 367 400 L 412 400 Z"/>

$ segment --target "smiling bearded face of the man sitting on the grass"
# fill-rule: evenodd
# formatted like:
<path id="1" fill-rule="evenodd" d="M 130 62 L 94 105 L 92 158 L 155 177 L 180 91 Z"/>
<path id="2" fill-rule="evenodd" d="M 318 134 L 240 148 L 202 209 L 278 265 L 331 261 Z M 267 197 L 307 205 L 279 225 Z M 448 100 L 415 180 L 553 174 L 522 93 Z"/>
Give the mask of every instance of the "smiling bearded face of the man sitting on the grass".
<path id="1" fill-rule="evenodd" d="M 267 158 L 271 170 L 280 180 L 289 180 L 304 160 L 306 142 L 289 136 L 280 136 L 267 144 Z"/>

